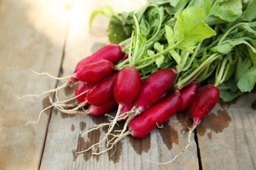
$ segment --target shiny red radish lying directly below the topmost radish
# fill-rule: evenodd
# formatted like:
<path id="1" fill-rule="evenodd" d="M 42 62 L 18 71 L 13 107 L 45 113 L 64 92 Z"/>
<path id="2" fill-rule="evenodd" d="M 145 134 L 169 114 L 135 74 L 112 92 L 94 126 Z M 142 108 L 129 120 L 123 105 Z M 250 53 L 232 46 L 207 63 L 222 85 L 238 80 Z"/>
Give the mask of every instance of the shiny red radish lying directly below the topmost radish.
<path id="1" fill-rule="evenodd" d="M 114 71 L 114 64 L 106 59 L 89 63 L 78 69 L 74 77 L 82 82 L 95 83 L 110 76 Z"/>

